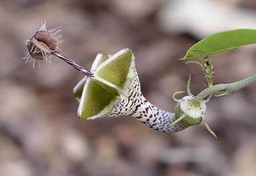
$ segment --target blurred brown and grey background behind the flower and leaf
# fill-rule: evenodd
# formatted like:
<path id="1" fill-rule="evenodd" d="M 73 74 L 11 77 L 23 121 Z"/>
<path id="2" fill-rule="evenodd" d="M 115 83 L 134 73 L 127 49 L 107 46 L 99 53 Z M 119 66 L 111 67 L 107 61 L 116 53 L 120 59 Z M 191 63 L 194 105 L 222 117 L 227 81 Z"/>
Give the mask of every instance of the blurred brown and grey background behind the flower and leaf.
<path id="1" fill-rule="evenodd" d="M 142 92 L 173 111 L 172 93 L 191 73 L 192 92 L 206 86 L 201 68 L 179 58 L 207 35 L 256 29 L 253 0 L 0 1 L 0 175 L 255 175 L 256 85 L 212 98 L 200 124 L 175 134 L 132 117 L 78 120 L 72 89 L 83 75 L 60 60 L 33 69 L 25 40 L 61 27 L 63 54 L 90 68 L 97 53 L 131 48 Z M 256 73 L 256 46 L 213 57 L 218 83 Z"/>

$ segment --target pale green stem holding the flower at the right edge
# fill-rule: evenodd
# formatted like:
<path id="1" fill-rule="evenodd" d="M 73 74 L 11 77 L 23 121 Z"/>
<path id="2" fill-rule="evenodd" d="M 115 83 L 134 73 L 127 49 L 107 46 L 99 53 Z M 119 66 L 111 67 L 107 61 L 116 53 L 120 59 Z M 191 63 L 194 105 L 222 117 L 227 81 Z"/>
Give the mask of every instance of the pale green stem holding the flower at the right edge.
<path id="1" fill-rule="evenodd" d="M 202 92 L 200 92 L 196 96 L 195 100 L 201 101 L 206 96 L 208 96 L 210 94 L 219 94 L 219 93 L 223 93 L 223 92 L 226 92 L 226 94 L 231 94 L 234 91 L 240 90 L 255 81 L 256 81 L 256 74 L 254 74 L 253 76 L 248 77 L 246 79 L 243 79 L 241 81 L 238 81 L 238 82 L 234 82 L 234 83 L 230 83 L 230 84 L 217 84 L 217 85 L 211 86 L 207 89 L 204 89 Z"/>

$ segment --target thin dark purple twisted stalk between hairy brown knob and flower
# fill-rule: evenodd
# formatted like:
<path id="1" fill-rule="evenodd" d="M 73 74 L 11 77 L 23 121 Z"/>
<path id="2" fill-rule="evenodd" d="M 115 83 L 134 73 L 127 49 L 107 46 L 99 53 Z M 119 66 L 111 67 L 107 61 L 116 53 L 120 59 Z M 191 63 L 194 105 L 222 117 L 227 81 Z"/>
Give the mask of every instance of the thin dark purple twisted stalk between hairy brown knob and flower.
<path id="1" fill-rule="evenodd" d="M 85 74 L 86 76 L 88 76 L 88 77 L 92 77 L 92 76 L 93 76 L 93 73 L 92 73 L 90 70 L 84 68 L 83 66 L 81 66 L 80 64 L 78 64 L 78 63 L 72 61 L 71 59 L 67 58 L 66 56 L 63 56 L 63 55 L 60 54 L 59 52 L 53 51 L 53 52 L 52 52 L 52 55 L 58 57 L 59 59 L 65 61 L 65 62 L 67 62 L 68 64 L 70 64 L 71 66 L 73 66 L 74 68 L 76 68 L 77 70 L 81 71 L 81 72 L 82 72 L 83 74 Z"/>

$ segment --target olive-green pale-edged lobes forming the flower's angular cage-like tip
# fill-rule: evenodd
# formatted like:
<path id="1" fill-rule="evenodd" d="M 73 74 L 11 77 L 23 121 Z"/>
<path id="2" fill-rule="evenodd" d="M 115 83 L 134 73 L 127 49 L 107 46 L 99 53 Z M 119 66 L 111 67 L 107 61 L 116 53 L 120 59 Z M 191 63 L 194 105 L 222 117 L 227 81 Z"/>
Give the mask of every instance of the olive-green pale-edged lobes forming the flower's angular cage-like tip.
<path id="1" fill-rule="evenodd" d="M 134 55 L 130 49 L 122 49 L 115 55 L 98 54 L 91 71 L 95 76 L 125 90 L 135 76 Z M 119 102 L 119 92 L 93 78 L 84 77 L 74 87 L 74 95 L 80 102 L 78 116 L 93 119 L 104 116 Z"/>

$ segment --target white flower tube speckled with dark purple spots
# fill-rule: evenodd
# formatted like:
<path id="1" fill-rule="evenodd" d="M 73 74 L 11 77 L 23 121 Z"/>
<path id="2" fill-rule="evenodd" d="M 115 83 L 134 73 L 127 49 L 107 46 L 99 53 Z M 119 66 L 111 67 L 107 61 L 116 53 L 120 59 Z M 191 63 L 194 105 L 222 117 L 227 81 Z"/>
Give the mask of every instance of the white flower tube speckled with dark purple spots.
<path id="1" fill-rule="evenodd" d="M 120 95 L 118 105 L 106 114 L 106 117 L 130 115 L 154 130 L 168 133 L 179 132 L 185 129 L 179 123 L 171 128 L 168 127 L 175 120 L 175 113 L 161 110 L 146 100 L 140 91 L 137 72 L 126 93 L 128 96 Z"/>

